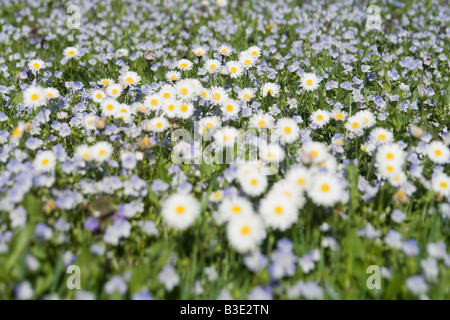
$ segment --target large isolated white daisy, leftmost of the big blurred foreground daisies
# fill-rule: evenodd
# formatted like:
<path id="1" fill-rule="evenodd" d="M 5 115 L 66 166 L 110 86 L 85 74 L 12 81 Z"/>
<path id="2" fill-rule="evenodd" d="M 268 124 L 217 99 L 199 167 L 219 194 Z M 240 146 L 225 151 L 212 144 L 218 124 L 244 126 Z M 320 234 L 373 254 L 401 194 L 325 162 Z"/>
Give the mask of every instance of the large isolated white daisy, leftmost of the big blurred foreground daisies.
<path id="1" fill-rule="evenodd" d="M 161 215 L 170 227 L 184 230 L 200 216 L 200 204 L 191 194 L 175 193 L 162 203 Z"/>

